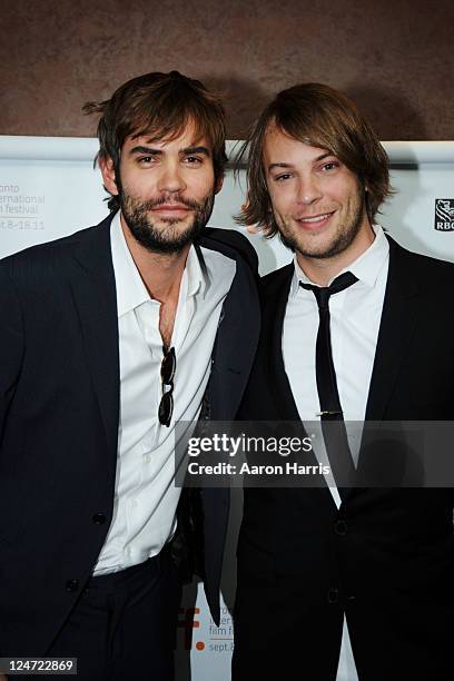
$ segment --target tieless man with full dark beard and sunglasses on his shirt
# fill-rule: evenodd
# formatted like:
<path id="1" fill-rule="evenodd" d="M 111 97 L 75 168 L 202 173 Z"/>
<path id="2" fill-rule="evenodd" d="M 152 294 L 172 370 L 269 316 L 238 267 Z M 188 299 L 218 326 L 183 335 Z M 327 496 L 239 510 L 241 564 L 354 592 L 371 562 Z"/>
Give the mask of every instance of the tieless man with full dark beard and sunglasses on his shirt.
<path id="1" fill-rule="evenodd" d="M 226 162 L 214 93 L 156 72 L 86 111 L 101 114 L 110 216 L 0 264 L 0 657 L 168 681 L 176 424 L 235 416 L 258 335 L 256 258 L 206 228 Z M 195 530 L 218 621 L 228 497 L 213 492 Z"/>

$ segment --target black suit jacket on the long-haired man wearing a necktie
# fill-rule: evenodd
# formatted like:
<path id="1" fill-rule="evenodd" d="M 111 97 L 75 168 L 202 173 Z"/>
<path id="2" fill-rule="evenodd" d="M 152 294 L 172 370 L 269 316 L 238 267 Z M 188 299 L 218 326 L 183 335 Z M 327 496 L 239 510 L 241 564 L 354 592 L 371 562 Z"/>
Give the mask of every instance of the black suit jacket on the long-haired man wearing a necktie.
<path id="1" fill-rule="evenodd" d="M 244 420 L 299 420 L 282 354 L 293 269 L 263 282 Z M 453 282 L 453 265 L 389 239 L 366 420 L 454 420 Z M 337 510 L 326 486 L 245 490 L 234 680 L 255 662 L 264 678 L 299 663 L 302 679 L 333 681 L 344 612 L 361 680 L 451 678 L 453 500 L 353 488 Z"/>

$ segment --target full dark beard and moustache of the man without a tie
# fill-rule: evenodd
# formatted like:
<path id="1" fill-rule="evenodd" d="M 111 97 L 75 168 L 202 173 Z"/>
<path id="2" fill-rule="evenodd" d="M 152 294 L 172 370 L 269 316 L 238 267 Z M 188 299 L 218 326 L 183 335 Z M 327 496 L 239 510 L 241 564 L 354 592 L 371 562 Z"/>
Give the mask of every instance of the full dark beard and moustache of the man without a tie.
<path id="1" fill-rule="evenodd" d="M 161 196 L 158 199 L 140 201 L 121 188 L 119 194 L 121 213 L 135 239 L 151 253 L 176 254 L 191 244 L 204 231 L 215 203 L 215 193 L 201 201 L 185 198 L 180 195 Z M 149 211 L 162 204 L 182 204 L 194 210 L 193 220 L 181 230 L 181 218 L 161 218 L 164 226 L 154 221 Z"/>

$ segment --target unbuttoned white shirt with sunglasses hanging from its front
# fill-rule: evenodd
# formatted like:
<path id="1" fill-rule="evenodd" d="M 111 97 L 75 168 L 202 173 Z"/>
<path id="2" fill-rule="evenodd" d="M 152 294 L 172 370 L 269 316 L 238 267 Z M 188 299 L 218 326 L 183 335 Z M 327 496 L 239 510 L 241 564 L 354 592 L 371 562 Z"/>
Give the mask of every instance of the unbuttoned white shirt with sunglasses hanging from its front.
<path id="1" fill-rule="evenodd" d="M 175 423 L 195 422 L 207 386 L 220 310 L 236 265 L 220 253 L 190 247 L 171 336 L 176 354 L 174 414 L 160 425 L 160 303 L 150 298 L 134 263 L 119 213 L 110 228 L 117 287 L 120 418 L 114 519 L 95 574 L 125 570 L 160 552 L 175 532 Z"/>

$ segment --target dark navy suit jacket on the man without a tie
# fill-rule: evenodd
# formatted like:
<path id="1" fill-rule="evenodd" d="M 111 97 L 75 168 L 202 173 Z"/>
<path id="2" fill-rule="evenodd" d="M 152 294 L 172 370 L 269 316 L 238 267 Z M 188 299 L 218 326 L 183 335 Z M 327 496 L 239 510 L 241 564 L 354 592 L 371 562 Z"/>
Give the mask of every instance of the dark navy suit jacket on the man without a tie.
<path id="1" fill-rule="evenodd" d="M 0 654 L 45 654 L 91 574 L 111 519 L 119 418 L 110 218 L 0 263 Z M 256 257 L 230 230 L 200 245 L 236 260 L 208 384 L 235 416 L 258 338 Z M 218 618 L 227 491 L 207 491 L 201 536 Z"/>

